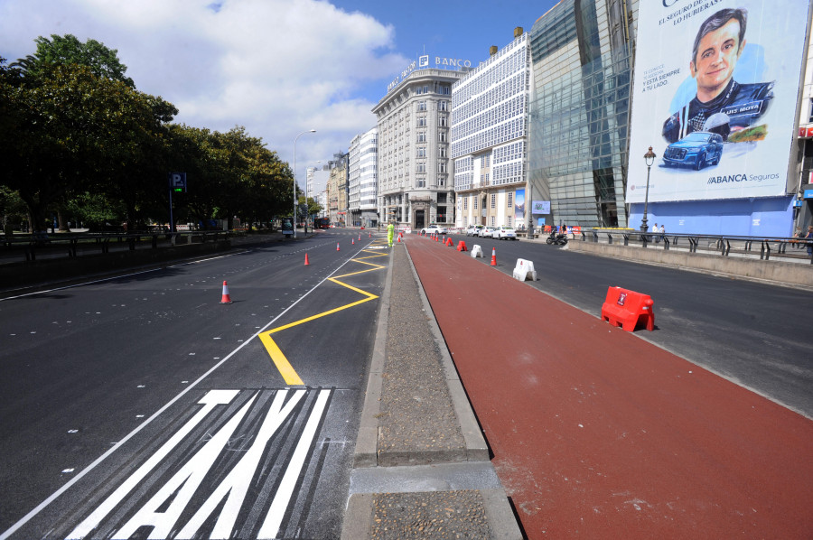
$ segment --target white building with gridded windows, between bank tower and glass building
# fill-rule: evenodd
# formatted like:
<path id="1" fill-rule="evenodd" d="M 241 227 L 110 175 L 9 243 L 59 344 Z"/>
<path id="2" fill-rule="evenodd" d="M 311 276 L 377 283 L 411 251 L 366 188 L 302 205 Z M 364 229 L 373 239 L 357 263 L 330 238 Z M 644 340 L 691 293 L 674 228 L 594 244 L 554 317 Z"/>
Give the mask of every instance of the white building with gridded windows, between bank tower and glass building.
<path id="1" fill-rule="evenodd" d="M 528 169 L 528 34 L 521 28 L 501 51 L 452 88 L 455 226 L 523 227 Z"/>

